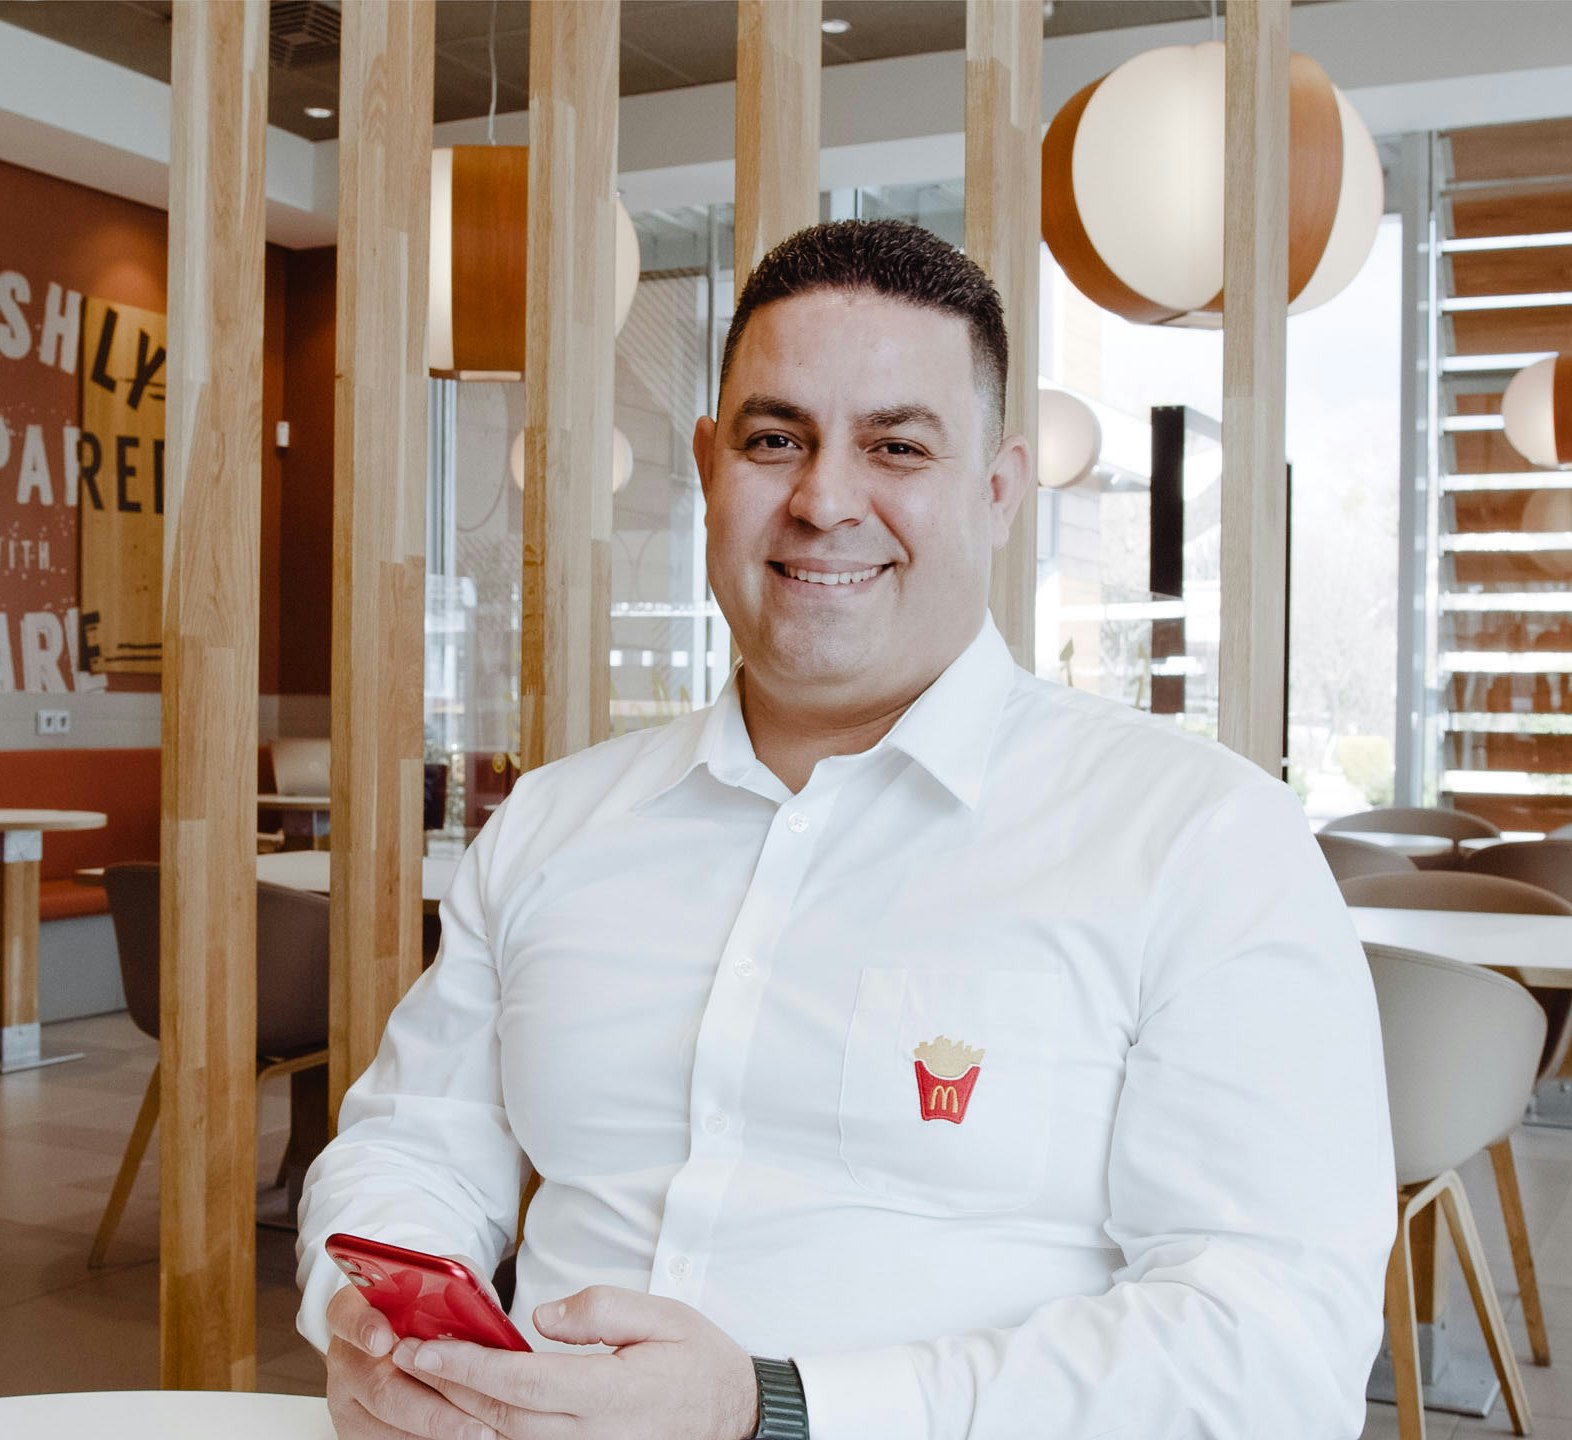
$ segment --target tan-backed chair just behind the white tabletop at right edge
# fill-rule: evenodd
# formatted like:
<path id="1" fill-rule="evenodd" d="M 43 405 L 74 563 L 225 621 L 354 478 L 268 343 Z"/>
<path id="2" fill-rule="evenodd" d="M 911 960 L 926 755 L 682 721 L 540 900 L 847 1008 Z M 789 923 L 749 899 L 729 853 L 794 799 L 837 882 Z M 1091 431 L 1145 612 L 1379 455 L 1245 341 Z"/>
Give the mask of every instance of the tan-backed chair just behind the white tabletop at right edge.
<path id="1" fill-rule="evenodd" d="M 1415 871 L 1409 876 L 1360 876 L 1344 880 L 1338 888 L 1350 906 L 1383 906 L 1393 910 L 1478 910 L 1497 915 L 1572 915 L 1572 902 L 1561 899 L 1559 894 L 1552 894 L 1548 890 L 1541 890 L 1523 880 L 1481 876 L 1467 869 Z M 1512 968 L 1511 956 L 1501 956 L 1501 968 Z M 1517 979 L 1514 978 L 1512 983 L 1517 984 Z M 1519 989 L 1526 987 L 1519 986 Z M 1566 1001 L 1556 992 L 1547 992 L 1547 998 L 1559 998 L 1559 1031 L 1550 1030 L 1555 1016 L 1547 1011 L 1539 992 L 1530 992 L 1530 998 L 1539 1005 L 1539 1012 L 1545 1019 L 1539 1049 L 1533 1055 L 1537 1080 L 1561 1064 L 1569 1027 L 1564 1019 Z M 1522 1119 L 1522 1113 L 1519 1119 Z M 1495 1188 L 1501 1198 L 1501 1218 L 1506 1221 L 1506 1237 L 1512 1247 L 1517 1291 L 1523 1297 L 1528 1344 L 1534 1355 L 1534 1365 L 1550 1365 L 1550 1336 L 1545 1330 L 1544 1305 L 1539 1300 L 1539 1277 L 1534 1269 L 1534 1251 L 1528 1243 L 1528 1223 L 1523 1220 L 1523 1196 L 1517 1182 L 1517 1162 L 1512 1157 L 1511 1137 L 1501 1135 L 1489 1146 L 1489 1151 Z"/>

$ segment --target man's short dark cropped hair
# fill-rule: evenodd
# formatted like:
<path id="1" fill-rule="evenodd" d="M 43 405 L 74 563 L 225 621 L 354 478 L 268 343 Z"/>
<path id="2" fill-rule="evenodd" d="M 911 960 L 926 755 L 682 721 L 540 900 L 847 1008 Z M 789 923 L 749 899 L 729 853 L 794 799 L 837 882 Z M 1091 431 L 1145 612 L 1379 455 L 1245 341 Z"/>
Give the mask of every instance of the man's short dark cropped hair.
<path id="1" fill-rule="evenodd" d="M 753 311 L 816 289 L 872 291 L 964 319 L 971 332 L 971 365 L 998 443 L 1009 374 L 1009 336 L 998 291 L 976 261 L 905 220 L 832 220 L 799 230 L 770 250 L 748 277 L 731 314 L 720 360 L 722 385 Z"/>

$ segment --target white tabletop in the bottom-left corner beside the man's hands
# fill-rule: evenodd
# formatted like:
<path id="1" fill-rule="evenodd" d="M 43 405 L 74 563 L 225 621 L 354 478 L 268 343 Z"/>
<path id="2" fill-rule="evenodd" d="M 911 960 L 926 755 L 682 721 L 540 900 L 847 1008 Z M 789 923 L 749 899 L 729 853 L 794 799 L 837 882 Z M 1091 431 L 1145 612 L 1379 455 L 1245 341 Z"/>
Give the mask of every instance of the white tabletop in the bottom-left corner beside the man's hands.
<path id="1" fill-rule="evenodd" d="M 333 1440 L 327 1401 L 214 1390 L 0 1398 L 6 1440 Z"/>

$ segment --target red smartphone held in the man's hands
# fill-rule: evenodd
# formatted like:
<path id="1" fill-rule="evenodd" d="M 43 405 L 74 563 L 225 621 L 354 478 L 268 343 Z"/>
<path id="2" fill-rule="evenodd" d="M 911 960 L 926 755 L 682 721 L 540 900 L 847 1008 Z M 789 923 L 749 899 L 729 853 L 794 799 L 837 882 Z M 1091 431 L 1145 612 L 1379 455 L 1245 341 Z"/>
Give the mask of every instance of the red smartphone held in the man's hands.
<path id="1" fill-rule="evenodd" d="M 503 1308 L 457 1261 L 363 1236 L 333 1234 L 324 1248 L 349 1283 L 388 1317 L 399 1338 L 530 1349 Z"/>

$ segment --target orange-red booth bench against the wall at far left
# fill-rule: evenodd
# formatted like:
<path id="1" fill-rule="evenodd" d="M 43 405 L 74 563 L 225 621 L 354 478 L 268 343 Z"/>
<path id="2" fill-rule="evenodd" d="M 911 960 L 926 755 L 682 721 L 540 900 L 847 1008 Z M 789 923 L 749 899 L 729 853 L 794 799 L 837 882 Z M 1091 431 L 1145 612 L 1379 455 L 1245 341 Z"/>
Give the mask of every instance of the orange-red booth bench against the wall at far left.
<path id="1" fill-rule="evenodd" d="M 159 858 L 159 758 L 151 750 L 0 750 L 0 806 L 101 810 L 102 830 L 52 830 L 44 836 L 41 920 L 107 915 L 108 898 L 72 874 L 124 860 Z"/>

